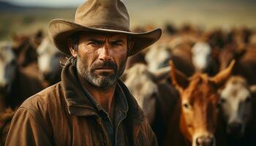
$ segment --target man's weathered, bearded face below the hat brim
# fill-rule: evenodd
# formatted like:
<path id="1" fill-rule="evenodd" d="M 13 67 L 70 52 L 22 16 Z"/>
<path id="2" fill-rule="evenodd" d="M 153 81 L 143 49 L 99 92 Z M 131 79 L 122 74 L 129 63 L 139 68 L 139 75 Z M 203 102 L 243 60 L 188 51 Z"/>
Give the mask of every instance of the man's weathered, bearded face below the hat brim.
<path id="1" fill-rule="evenodd" d="M 77 57 L 80 77 L 96 88 L 108 89 L 124 72 L 127 62 L 127 35 L 80 34 Z"/>

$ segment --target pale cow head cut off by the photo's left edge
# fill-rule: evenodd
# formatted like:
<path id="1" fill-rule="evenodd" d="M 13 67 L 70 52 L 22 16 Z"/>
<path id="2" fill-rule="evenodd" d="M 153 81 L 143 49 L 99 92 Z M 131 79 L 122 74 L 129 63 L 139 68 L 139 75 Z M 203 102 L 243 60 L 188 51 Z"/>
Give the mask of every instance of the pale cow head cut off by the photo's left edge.
<path id="1" fill-rule="evenodd" d="M 0 91 L 10 91 L 10 86 L 15 78 L 17 64 L 12 46 L 8 42 L 0 42 Z"/>

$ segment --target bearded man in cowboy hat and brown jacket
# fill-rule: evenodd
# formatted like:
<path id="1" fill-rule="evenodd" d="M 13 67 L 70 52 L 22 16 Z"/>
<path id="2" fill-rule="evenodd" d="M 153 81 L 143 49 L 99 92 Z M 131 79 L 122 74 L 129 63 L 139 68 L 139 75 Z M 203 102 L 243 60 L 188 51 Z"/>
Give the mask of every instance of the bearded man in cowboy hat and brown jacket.
<path id="1" fill-rule="evenodd" d="M 88 0 L 75 22 L 52 20 L 49 35 L 71 55 L 61 82 L 23 102 L 6 145 L 157 145 L 146 116 L 118 77 L 127 57 L 156 42 L 161 30 L 129 31 L 119 0 Z"/>

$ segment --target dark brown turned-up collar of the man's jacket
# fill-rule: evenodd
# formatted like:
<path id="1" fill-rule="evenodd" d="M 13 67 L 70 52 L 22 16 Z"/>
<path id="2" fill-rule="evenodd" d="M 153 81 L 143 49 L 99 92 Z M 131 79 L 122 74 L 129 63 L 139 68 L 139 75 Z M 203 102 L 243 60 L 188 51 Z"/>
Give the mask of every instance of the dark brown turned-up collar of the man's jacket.
<path id="1" fill-rule="evenodd" d="M 84 92 L 83 87 L 80 85 L 77 77 L 77 69 L 75 65 L 72 65 L 70 62 L 64 66 L 64 69 L 61 72 L 61 85 L 64 91 L 64 99 L 67 103 L 67 110 L 70 115 L 98 116 L 97 109 L 90 101 L 90 95 L 87 94 L 89 92 Z M 143 121 L 146 116 L 138 106 L 135 98 L 131 93 L 129 93 L 129 90 L 126 85 L 124 85 L 124 82 L 118 80 L 117 87 L 124 93 L 127 99 L 128 107 L 127 109 L 124 109 L 124 112 L 127 112 L 127 116 L 136 118 L 137 121 Z"/>

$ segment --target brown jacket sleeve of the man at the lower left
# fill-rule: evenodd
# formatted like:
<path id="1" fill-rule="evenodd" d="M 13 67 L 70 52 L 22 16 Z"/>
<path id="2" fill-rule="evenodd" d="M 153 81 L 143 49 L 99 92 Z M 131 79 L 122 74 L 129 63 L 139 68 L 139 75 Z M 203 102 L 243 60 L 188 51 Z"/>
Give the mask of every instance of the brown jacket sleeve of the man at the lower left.
<path id="1" fill-rule="evenodd" d="M 12 118 L 5 145 L 52 145 L 38 115 L 20 107 Z"/>

